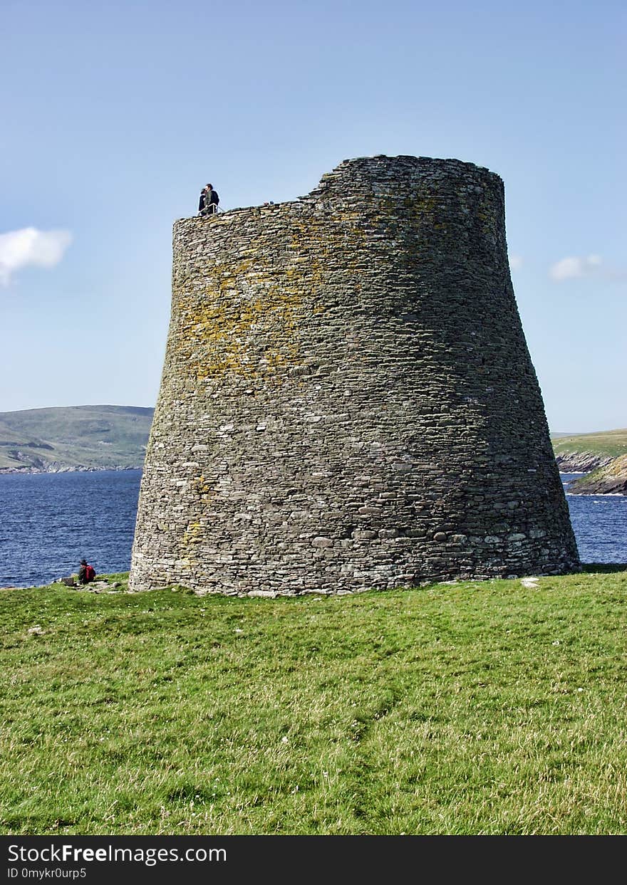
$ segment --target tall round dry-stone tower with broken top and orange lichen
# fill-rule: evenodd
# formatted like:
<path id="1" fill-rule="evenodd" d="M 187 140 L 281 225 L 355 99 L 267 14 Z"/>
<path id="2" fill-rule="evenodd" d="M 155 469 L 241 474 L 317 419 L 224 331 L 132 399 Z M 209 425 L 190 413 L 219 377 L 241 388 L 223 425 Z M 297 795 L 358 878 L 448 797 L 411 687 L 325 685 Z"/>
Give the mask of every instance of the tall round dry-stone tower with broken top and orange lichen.
<path id="1" fill-rule="evenodd" d="M 132 589 L 578 568 L 498 175 L 352 159 L 295 202 L 174 224 Z"/>

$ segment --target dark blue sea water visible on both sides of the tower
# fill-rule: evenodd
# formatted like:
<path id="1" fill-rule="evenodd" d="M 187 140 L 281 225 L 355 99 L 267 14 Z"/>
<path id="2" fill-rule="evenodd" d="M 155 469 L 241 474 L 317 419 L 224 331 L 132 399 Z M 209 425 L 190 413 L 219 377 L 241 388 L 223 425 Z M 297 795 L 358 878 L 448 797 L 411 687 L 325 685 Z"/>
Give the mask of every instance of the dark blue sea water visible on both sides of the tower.
<path id="1" fill-rule="evenodd" d="M 627 496 L 569 495 L 584 563 L 627 563 Z M 140 470 L 0 474 L 0 587 L 47 584 L 78 571 L 128 572 Z"/>

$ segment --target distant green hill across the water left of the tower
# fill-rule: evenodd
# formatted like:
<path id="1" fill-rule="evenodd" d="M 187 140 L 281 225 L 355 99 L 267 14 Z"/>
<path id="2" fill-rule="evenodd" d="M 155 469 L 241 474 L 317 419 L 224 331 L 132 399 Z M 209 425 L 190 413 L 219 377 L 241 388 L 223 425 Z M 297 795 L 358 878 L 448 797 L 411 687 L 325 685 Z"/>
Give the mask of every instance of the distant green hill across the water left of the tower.
<path id="1" fill-rule="evenodd" d="M 0 412 L 0 473 L 142 467 L 153 412 L 132 405 Z"/>

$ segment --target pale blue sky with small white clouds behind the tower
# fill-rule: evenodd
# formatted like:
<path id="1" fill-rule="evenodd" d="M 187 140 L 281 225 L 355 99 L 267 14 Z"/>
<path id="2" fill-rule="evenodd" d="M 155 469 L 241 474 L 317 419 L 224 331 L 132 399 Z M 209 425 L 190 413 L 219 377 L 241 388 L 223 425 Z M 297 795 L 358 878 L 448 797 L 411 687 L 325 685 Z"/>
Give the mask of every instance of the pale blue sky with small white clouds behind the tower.
<path id="1" fill-rule="evenodd" d="M 4 0 L 0 412 L 153 405 L 172 223 L 346 158 L 505 181 L 553 431 L 627 427 L 625 4 Z"/>

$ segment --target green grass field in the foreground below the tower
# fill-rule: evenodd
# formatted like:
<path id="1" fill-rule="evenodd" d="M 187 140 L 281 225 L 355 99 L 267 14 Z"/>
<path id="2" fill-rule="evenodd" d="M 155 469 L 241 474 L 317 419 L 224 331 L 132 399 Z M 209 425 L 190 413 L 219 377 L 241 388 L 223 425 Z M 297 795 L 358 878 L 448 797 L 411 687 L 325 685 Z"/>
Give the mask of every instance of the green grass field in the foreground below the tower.
<path id="1" fill-rule="evenodd" d="M 627 834 L 627 571 L 586 568 L 4 590 L 0 832 Z"/>

